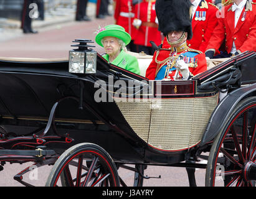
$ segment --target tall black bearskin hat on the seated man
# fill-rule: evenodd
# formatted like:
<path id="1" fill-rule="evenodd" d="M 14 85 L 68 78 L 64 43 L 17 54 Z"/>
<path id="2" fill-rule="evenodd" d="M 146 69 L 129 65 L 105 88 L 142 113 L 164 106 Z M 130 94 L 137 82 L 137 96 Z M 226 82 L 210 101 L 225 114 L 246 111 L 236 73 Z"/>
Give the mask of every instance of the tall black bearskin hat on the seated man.
<path id="1" fill-rule="evenodd" d="M 165 36 L 174 30 L 184 31 L 187 32 L 187 39 L 191 39 L 191 6 L 189 0 L 156 0 L 158 30 Z"/>

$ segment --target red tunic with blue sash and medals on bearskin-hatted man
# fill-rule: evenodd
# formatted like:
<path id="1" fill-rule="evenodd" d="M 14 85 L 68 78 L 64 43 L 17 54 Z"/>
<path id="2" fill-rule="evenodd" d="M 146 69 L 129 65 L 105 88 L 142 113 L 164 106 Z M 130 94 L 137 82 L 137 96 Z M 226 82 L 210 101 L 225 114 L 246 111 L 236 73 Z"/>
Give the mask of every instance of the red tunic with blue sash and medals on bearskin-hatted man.
<path id="1" fill-rule="evenodd" d="M 177 48 L 178 49 L 178 48 Z M 180 50 L 179 50 L 180 49 Z M 207 70 L 206 55 L 198 50 L 189 49 L 187 45 L 177 50 L 177 57 L 184 56 L 184 61 L 189 64 L 189 71 L 191 75 L 197 75 Z M 163 74 L 166 71 L 166 65 L 170 60 L 170 54 L 173 54 L 174 49 L 159 49 L 154 52 L 153 60 L 146 70 L 146 78 L 149 80 L 161 80 L 164 78 Z M 176 70 L 169 72 L 169 79 L 173 79 Z M 179 73 L 181 76 L 181 73 Z"/>

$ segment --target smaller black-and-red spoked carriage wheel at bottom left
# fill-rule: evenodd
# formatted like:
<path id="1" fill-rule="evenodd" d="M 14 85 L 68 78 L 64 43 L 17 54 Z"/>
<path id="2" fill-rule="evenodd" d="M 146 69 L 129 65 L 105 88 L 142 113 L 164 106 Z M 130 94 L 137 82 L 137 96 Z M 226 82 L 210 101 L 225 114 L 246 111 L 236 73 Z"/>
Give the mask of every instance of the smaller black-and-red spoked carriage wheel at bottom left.
<path id="1" fill-rule="evenodd" d="M 116 187 L 120 185 L 115 163 L 96 144 L 77 144 L 60 155 L 46 186 Z"/>

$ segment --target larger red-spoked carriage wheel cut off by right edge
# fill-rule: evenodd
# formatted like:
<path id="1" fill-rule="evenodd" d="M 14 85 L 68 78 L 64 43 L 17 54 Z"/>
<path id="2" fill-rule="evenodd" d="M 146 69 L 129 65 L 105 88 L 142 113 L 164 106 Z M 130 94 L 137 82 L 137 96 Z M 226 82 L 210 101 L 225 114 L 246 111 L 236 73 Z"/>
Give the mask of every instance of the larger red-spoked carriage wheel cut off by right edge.
<path id="1" fill-rule="evenodd" d="M 212 145 L 206 186 L 255 186 L 256 97 L 237 104 Z"/>

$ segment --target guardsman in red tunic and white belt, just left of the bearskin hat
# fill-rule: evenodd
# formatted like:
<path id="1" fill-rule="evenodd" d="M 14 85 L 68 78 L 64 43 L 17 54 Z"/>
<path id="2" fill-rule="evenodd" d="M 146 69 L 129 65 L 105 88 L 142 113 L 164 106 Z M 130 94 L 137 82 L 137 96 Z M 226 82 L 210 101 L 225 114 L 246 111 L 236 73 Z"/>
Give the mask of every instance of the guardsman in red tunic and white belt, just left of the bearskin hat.
<path id="1" fill-rule="evenodd" d="M 154 54 L 150 43 L 161 44 L 161 32 L 158 30 L 158 19 L 155 11 L 156 0 L 143 0 L 135 5 L 135 19 L 133 25 L 136 27 L 134 43 L 138 46 L 138 52 L 145 52 L 148 55 Z"/>

